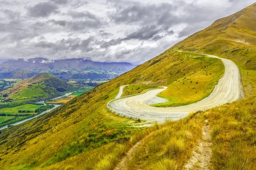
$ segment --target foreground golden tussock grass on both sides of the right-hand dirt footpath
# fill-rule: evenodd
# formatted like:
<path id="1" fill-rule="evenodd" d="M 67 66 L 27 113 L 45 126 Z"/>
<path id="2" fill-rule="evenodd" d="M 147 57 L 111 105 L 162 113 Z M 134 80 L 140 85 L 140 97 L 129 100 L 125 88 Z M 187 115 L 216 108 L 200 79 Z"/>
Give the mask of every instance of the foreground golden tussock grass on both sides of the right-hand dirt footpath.
<path id="1" fill-rule="evenodd" d="M 210 169 L 255 170 L 256 108 L 253 105 L 256 100 L 250 98 L 159 125 L 138 147 L 127 169 L 181 170 L 192 156 L 192 147 L 202 138 L 202 125 L 206 124 L 212 128 Z"/>

